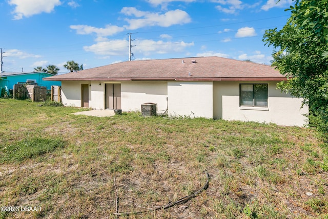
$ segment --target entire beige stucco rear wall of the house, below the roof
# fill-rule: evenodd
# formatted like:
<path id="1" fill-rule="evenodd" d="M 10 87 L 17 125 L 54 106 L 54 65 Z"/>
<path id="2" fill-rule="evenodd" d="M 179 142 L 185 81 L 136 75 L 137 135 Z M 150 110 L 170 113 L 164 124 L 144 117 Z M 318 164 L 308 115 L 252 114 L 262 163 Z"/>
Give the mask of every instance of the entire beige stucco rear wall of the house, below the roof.
<path id="1" fill-rule="evenodd" d="M 64 81 L 61 83 L 63 104 L 80 107 L 81 84 L 89 84 L 89 107 L 104 109 L 106 83 L 121 84 L 123 111 L 140 111 L 141 104 L 157 103 L 158 110 L 165 110 L 168 106 L 168 114 L 171 116 L 191 115 L 193 117 L 195 115 L 195 117 L 255 121 L 285 126 L 303 126 L 306 124 L 306 117 L 303 114 L 309 112 L 306 106 L 300 108 L 302 99 L 281 93 L 276 89 L 277 82 Z M 269 107 L 239 107 L 239 84 L 241 83 L 269 84 Z"/>

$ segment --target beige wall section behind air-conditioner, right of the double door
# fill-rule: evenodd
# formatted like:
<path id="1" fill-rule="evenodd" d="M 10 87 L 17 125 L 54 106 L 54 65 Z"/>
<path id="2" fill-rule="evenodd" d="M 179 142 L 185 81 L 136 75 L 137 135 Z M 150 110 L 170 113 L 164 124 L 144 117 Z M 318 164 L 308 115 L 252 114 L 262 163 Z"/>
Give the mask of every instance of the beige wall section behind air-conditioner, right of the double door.
<path id="1" fill-rule="evenodd" d="M 144 103 L 157 103 L 157 110 L 166 110 L 167 96 L 167 82 L 121 82 L 121 106 L 123 111 L 141 111 L 141 104 Z"/>

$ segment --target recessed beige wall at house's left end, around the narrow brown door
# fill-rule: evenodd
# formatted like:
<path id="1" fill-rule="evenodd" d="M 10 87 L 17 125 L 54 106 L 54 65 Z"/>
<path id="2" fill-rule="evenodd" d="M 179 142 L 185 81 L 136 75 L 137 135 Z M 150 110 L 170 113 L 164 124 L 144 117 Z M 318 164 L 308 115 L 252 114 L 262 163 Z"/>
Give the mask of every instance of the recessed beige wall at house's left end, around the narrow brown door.
<path id="1" fill-rule="evenodd" d="M 81 84 L 89 84 L 91 82 L 61 82 L 61 99 L 64 106 L 81 106 Z M 91 100 L 91 89 L 89 86 L 89 102 Z"/>

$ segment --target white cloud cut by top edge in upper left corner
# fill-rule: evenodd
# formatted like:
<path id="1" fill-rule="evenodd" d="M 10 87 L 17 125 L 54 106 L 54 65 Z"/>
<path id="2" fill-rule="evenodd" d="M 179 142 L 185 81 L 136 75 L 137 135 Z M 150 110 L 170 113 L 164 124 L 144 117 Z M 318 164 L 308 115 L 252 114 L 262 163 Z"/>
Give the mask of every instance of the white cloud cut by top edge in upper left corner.
<path id="1" fill-rule="evenodd" d="M 8 0 L 9 5 L 15 5 L 14 19 L 22 19 L 43 12 L 50 13 L 55 6 L 61 4 L 60 0 Z"/>

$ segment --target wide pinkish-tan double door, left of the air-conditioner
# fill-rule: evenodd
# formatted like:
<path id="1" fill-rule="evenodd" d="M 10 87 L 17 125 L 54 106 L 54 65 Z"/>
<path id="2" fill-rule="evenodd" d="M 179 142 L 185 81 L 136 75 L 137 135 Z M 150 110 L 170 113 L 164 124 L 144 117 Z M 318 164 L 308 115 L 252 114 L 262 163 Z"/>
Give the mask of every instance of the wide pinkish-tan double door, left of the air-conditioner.
<path id="1" fill-rule="evenodd" d="M 121 85 L 105 85 L 106 109 L 121 109 Z"/>

